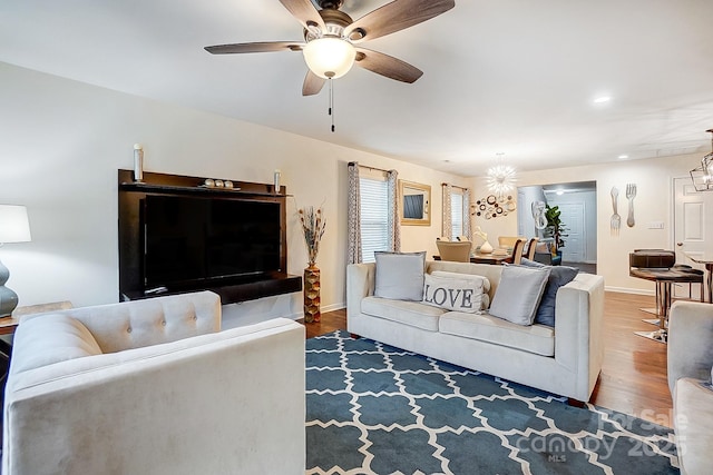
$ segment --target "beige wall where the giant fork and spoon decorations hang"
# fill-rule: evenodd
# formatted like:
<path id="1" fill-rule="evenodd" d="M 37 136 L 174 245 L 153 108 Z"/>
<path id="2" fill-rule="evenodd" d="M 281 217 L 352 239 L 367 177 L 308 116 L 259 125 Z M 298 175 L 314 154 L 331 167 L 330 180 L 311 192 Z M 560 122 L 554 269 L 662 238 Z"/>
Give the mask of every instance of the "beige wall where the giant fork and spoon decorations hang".
<path id="1" fill-rule="evenodd" d="M 702 152 L 705 155 L 705 152 Z M 607 289 L 653 293 L 653 284 L 628 276 L 628 254 L 635 248 L 673 249 L 673 179 L 685 177 L 701 161 L 701 155 L 676 156 L 647 160 L 618 161 L 586 167 L 559 168 L 518 174 L 518 186 L 570 181 L 597 182 L 597 274 L 604 276 Z M 626 226 L 626 184 L 637 184 L 634 201 L 636 225 Z M 487 195 L 482 178 L 473 178 L 476 196 Z M 613 214 L 609 191 L 619 189 L 618 212 L 624 216 L 619 236 L 612 236 Z M 494 237 L 517 232 L 517 214 L 505 218 L 480 219 L 475 222 Z M 648 224 L 663 221 L 663 229 L 648 229 Z M 691 263 L 682 263 L 691 264 Z"/>

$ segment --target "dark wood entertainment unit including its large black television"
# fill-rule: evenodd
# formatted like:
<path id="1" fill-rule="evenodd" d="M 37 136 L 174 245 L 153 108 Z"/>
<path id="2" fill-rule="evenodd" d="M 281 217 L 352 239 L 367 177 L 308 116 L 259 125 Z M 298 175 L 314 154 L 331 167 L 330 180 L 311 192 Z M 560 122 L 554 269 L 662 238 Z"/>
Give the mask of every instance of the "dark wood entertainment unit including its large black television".
<path id="1" fill-rule="evenodd" d="M 285 187 L 206 180 L 118 170 L 120 300 L 213 290 L 232 304 L 302 290 L 286 273 Z"/>

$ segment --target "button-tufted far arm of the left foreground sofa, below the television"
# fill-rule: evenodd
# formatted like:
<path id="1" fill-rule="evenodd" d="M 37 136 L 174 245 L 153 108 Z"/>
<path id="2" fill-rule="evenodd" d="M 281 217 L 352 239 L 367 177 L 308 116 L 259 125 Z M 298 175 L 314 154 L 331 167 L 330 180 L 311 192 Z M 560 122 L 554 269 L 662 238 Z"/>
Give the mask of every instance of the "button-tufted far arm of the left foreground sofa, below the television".
<path id="1" fill-rule="evenodd" d="M 52 311 L 81 321 L 102 353 L 123 352 L 221 330 L 221 297 L 197 291 Z M 22 317 L 25 321 L 48 314 Z"/>

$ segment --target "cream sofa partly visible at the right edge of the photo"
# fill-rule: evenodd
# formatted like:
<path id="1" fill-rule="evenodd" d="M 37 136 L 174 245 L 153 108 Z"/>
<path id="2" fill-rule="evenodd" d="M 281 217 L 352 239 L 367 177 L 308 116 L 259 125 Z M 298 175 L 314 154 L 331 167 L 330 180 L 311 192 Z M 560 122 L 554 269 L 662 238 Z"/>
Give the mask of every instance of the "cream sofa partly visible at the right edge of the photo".
<path id="1" fill-rule="evenodd" d="M 713 305 L 676 301 L 668 314 L 668 387 L 681 473 L 713 473 Z"/>

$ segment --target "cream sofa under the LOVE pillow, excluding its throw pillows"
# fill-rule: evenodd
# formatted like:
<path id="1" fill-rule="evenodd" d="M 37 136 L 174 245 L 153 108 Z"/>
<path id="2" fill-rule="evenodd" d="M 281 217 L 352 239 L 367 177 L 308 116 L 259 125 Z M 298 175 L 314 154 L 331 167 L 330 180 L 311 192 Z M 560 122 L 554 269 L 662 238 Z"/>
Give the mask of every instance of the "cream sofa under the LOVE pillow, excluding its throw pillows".
<path id="1" fill-rule="evenodd" d="M 427 261 L 426 271 L 485 276 L 495 296 L 502 266 Z M 604 357 L 604 278 L 578 274 L 559 288 L 555 327 L 522 326 L 418 301 L 374 297 L 374 264 L 346 270 L 350 333 L 470 369 L 567 396 L 589 399 Z"/>

